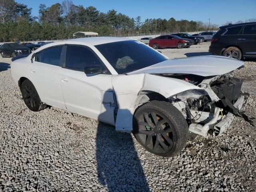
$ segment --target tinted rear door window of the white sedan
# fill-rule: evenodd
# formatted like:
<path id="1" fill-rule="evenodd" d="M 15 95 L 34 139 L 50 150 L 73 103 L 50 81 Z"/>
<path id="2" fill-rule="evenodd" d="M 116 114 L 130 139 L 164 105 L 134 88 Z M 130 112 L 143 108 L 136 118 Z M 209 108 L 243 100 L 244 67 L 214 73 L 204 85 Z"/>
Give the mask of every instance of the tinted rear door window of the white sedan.
<path id="1" fill-rule="evenodd" d="M 55 66 L 61 66 L 60 56 L 63 46 L 47 48 L 36 54 L 36 61 Z"/>

